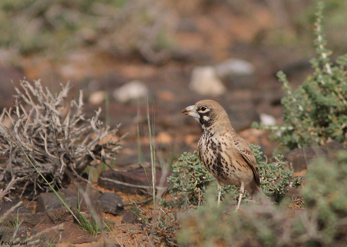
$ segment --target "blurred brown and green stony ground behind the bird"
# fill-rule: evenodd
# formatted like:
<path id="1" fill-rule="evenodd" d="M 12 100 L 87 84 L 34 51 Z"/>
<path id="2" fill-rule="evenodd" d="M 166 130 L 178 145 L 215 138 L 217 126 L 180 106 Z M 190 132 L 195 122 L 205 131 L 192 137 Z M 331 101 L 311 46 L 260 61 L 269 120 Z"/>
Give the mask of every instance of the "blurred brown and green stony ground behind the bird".
<path id="1" fill-rule="evenodd" d="M 326 0 L 324 33 L 332 57 L 347 52 L 347 1 Z M 166 160 L 192 151 L 201 129 L 181 110 L 206 98 L 270 154 L 269 134 L 250 129 L 281 121 L 283 70 L 293 88 L 315 56 L 315 0 L 0 0 L 0 107 L 13 105 L 11 81 L 52 90 L 70 81 L 85 109 L 98 107 L 119 136 L 118 165 L 149 155 L 146 98 L 156 145 Z"/>

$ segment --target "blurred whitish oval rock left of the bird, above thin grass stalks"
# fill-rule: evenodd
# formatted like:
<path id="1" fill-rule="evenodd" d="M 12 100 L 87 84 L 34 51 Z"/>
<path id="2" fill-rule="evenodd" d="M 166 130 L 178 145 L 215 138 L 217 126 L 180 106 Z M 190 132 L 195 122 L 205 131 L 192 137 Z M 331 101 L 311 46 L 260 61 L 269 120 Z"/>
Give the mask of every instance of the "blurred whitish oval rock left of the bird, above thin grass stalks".
<path id="1" fill-rule="evenodd" d="M 148 86 L 144 82 L 135 80 L 117 88 L 113 96 L 117 101 L 125 103 L 130 100 L 146 97 L 148 94 Z"/>

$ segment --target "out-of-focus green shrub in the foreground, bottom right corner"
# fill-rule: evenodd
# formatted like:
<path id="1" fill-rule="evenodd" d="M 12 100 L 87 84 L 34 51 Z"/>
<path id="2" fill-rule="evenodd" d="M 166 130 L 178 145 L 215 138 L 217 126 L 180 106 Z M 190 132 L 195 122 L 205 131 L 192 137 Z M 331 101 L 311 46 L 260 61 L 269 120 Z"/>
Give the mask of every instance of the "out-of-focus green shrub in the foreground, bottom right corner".
<path id="1" fill-rule="evenodd" d="M 266 199 L 235 211 L 216 205 L 208 188 L 206 201 L 179 215 L 180 246 L 343 247 L 347 241 L 347 153 L 309 165 L 301 194 L 306 209 L 277 206 Z"/>

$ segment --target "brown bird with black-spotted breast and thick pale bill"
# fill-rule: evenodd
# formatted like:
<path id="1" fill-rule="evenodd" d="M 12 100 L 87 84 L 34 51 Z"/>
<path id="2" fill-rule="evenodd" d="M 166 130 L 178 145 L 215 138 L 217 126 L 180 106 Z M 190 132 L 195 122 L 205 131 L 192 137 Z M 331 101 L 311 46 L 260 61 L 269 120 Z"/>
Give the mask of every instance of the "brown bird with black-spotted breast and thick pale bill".
<path id="1" fill-rule="evenodd" d="M 251 195 L 262 192 L 253 152 L 247 141 L 231 126 L 227 112 L 218 102 L 201 100 L 184 108 L 182 113 L 193 117 L 203 129 L 197 156 L 217 180 L 217 205 L 221 202 L 222 184 L 240 186 L 236 210 L 240 207 L 245 189 Z"/>

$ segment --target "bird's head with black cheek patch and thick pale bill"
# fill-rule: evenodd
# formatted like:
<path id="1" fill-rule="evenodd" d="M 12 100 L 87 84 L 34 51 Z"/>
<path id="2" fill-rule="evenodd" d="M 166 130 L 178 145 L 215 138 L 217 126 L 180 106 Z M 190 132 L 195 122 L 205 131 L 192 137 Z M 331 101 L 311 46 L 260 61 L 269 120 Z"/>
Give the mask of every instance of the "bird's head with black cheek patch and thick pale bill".
<path id="1" fill-rule="evenodd" d="M 183 109 L 182 113 L 193 117 L 198 121 L 204 130 L 212 128 L 214 125 L 230 124 L 227 112 L 214 100 L 205 99 Z"/>

